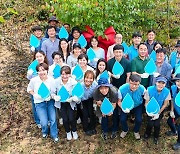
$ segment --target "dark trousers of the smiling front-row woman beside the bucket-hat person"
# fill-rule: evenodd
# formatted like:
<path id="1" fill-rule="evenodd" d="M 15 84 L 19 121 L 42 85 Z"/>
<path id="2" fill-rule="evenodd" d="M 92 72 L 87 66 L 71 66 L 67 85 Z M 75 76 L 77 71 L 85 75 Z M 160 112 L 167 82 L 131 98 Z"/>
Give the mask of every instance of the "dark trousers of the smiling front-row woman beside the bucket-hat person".
<path id="1" fill-rule="evenodd" d="M 81 103 L 83 114 L 83 129 L 85 132 L 89 130 L 94 130 L 96 126 L 96 118 L 93 108 L 93 98 L 82 101 Z"/>

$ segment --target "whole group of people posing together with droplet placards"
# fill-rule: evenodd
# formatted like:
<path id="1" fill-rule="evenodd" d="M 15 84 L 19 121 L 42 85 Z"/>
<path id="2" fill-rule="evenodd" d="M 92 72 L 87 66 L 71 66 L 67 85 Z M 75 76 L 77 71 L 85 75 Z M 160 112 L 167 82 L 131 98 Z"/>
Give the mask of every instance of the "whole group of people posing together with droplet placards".
<path id="1" fill-rule="evenodd" d="M 154 128 L 154 143 L 158 144 L 160 122 L 164 111 L 170 106 L 170 116 L 167 120 L 170 131 L 167 135 L 178 135 L 177 143 L 173 148 L 180 149 L 180 125 L 176 123 L 180 117 L 180 107 L 175 103 L 180 90 L 180 74 L 175 73 L 180 66 L 180 40 L 177 41 L 176 50 L 171 52 L 168 58 L 162 43 L 155 41 L 154 30 L 148 31 L 145 42 L 142 42 L 142 35 L 139 32 L 133 33 L 133 44 L 127 52 L 124 52 L 122 35 L 119 33 L 115 35 L 115 44 L 109 46 L 107 53 L 98 47 L 98 39 L 92 37 L 88 47 L 94 50 L 96 58 L 89 61 L 86 54 L 88 47 L 82 48 L 77 43 L 81 35 L 80 29 L 73 27 L 70 31 L 70 25 L 64 24 L 63 26 L 69 32 L 69 38 L 59 39 L 58 23 L 54 16 L 49 19 L 45 37 L 42 37 L 43 31 L 40 26 L 32 28 L 33 34 L 40 40 L 40 45 L 37 48 L 31 48 L 34 53 L 33 60 L 37 60 L 38 65 L 36 71 L 27 72 L 27 78 L 30 80 L 27 92 L 31 95 L 34 120 L 42 129 L 42 137 L 46 138 L 50 133 L 52 139 L 58 142 L 58 127 L 59 122 L 62 121 L 67 140 L 76 140 L 78 139 L 77 120 L 81 120 L 86 135 L 94 135 L 97 133 L 96 124 L 99 119 L 102 128 L 101 136 L 104 140 L 108 139 L 109 132 L 112 139 L 116 138 L 120 128 L 122 130 L 120 137 L 125 138 L 130 131 L 127 119 L 134 115 L 133 132 L 135 139 L 139 140 L 143 113 L 151 98 L 154 97 L 160 111 L 154 115 L 147 114 L 144 139 L 151 136 Z M 145 73 L 145 66 L 153 50 L 156 52 L 157 70 L 153 75 L 149 75 Z M 115 62 L 119 62 L 123 68 L 121 75 L 113 74 Z M 57 64 L 61 67 L 58 77 L 53 71 Z M 77 64 L 83 71 L 83 78 L 80 80 L 72 75 Z M 106 77 L 103 75 L 105 71 Z M 38 94 L 42 83 L 49 90 L 49 95 L 45 99 Z M 77 83 L 80 83 L 84 89 L 81 98 L 72 95 L 72 90 Z M 64 96 L 59 95 L 62 87 L 67 91 Z M 127 94 L 134 101 L 132 110 L 122 109 L 122 101 Z M 65 95 L 68 95 L 67 99 L 64 99 Z M 101 105 L 105 98 L 114 108 L 108 115 L 101 112 Z M 109 126 L 109 120 L 112 120 L 111 126 Z"/>

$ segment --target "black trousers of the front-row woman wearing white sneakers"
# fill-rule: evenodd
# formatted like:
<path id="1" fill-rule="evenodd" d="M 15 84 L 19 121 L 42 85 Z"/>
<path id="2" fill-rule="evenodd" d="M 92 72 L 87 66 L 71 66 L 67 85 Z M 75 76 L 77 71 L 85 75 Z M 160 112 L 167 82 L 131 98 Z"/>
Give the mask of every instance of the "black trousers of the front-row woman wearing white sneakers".
<path id="1" fill-rule="evenodd" d="M 63 119 L 63 125 L 65 128 L 65 131 L 67 133 L 70 132 L 71 130 L 75 132 L 77 130 L 75 112 L 71 108 L 71 105 L 69 103 L 67 102 L 61 103 L 61 116 Z"/>

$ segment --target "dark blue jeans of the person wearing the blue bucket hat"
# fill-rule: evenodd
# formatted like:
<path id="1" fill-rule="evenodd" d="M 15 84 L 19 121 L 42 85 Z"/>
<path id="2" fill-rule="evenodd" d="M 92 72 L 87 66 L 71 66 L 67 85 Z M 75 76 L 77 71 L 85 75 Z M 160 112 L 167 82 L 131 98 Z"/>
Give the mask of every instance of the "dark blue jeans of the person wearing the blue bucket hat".
<path id="1" fill-rule="evenodd" d="M 117 132 L 118 130 L 118 108 L 116 107 L 113 111 L 113 115 L 112 115 L 112 132 Z M 109 123 L 109 119 L 108 116 L 102 117 L 102 121 L 101 121 L 101 128 L 103 133 L 107 133 L 109 131 L 108 128 L 108 123 Z"/>

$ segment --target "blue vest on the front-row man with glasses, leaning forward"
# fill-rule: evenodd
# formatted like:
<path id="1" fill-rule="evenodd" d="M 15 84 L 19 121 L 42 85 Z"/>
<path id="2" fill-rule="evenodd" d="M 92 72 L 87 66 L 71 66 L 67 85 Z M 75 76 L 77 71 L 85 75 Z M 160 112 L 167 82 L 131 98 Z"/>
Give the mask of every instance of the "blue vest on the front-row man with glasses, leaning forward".
<path id="1" fill-rule="evenodd" d="M 145 88 L 143 85 L 140 85 L 136 91 L 131 91 L 130 90 L 130 85 L 129 83 L 123 84 L 120 88 L 119 91 L 122 95 L 122 100 L 126 96 L 127 93 L 132 97 L 134 101 L 134 108 L 142 104 L 143 102 L 143 95 Z"/>

